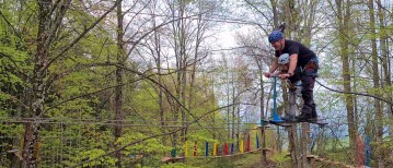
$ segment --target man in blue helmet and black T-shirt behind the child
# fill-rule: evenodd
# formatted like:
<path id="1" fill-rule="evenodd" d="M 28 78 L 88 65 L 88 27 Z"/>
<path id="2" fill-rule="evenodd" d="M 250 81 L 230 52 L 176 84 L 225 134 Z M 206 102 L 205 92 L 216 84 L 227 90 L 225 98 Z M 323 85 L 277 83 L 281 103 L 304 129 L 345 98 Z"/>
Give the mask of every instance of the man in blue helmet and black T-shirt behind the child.
<path id="1" fill-rule="evenodd" d="M 274 31 L 269 37 L 269 43 L 275 48 L 275 59 L 268 72 L 265 72 L 266 77 L 271 77 L 274 72 L 277 70 L 279 64 L 279 57 L 282 53 L 288 53 L 289 56 L 289 68 L 287 73 L 278 74 L 278 77 L 281 80 L 291 79 L 293 75 L 299 75 L 301 80 L 301 95 L 303 99 L 303 108 L 301 113 L 296 116 L 294 119 L 292 116 L 286 116 L 284 120 L 298 120 L 298 121 L 308 121 L 308 120 L 317 120 L 317 115 L 315 111 L 315 104 L 313 98 L 313 88 L 315 83 L 315 77 L 317 76 L 319 62 L 316 55 L 302 45 L 301 43 L 289 40 L 284 38 L 284 34 L 280 31 Z M 280 61 L 286 60 L 281 59 Z M 300 69 L 296 71 L 296 69 Z M 291 111 L 294 112 L 294 111 Z M 289 113 L 291 113 L 289 112 Z"/>

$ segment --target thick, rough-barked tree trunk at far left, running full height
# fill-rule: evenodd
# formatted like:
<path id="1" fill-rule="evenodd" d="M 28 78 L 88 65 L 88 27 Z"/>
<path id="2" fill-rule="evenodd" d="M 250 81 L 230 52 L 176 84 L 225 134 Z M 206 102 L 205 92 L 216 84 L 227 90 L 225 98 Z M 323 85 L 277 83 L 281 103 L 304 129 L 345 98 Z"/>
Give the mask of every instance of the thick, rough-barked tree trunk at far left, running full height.
<path id="1" fill-rule="evenodd" d="M 31 111 L 28 111 L 28 118 L 36 118 L 44 112 L 45 96 L 46 96 L 46 77 L 49 53 L 49 35 L 50 35 L 50 11 L 51 0 L 45 0 L 38 2 L 39 5 L 39 23 L 37 34 L 37 50 L 34 57 L 34 74 L 33 74 L 33 96 Z M 23 141 L 22 167 L 37 167 L 38 160 L 34 153 L 37 153 L 38 140 L 39 140 L 39 124 L 35 123 L 34 119 L 25 124 L 25 133 Z"/>

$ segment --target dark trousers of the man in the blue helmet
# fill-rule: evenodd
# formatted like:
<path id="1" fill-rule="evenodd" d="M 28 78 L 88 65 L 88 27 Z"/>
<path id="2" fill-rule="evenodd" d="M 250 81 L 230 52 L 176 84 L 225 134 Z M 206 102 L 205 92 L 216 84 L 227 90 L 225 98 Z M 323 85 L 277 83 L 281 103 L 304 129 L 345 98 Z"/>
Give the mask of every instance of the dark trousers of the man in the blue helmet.
<path id="1" fill-rule="evenodd" d="M 303 87 L 301 95 L 304 103 L 301 112 L 311 115 L 312 117 L 316 117 L 313 89 L 315 84 L 315 77 L 317 76 L 317 59 L 312 59 L 304 65 L 301 75 L 301 82 Z"/>

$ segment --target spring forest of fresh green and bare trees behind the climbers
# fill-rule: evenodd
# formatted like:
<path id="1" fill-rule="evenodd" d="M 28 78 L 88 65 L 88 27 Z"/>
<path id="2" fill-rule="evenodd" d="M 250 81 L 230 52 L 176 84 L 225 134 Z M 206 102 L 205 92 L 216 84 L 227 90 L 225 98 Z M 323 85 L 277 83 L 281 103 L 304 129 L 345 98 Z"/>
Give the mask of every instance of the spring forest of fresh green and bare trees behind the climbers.
<path id="1" fill-rule="evenodd" d="M 331 129 L 320 144 L 347 142 L 342 159 L 355 164 L 357 141 L 368 137 L 375 166 L 393 161 L 389 0 L 0 0 L 0 7 L 2 167 L 124 167 L 135 166 L 129 156 L 137 154 L 155 167 L 173 148 L 183 155 L 188 141 L 239 148 L 271 116 L 271 80 L 263 72 L 274 53 L 267 35 L 281 23 L 288 39 L 320 59 L 314 95 Z M 280 85 L 279 112 L 286 97 Z M 285 131 L 266 133 L 265 146 L 286 146 Z"/>

